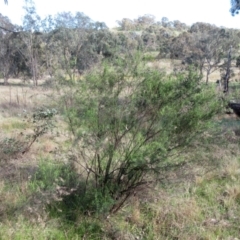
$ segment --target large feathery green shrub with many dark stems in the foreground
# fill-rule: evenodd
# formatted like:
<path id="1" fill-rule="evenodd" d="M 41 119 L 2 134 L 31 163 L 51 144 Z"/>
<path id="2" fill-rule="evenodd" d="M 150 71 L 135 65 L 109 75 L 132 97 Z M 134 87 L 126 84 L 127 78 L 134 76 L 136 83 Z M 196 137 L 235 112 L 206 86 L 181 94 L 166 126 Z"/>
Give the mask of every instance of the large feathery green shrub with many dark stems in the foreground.
<path id="1" fill-rule="evenodd" d="M 200 137 L 220 107 L 213 89 L 192 69 L 166 76 L 138 59 L 91 72 L 65 105 L 86 188 L 94 182 L 102 196 L 117 201 L 111 212 L 147 182 L 149 173 L 158 178 L 180 164 L 170 161 L 170 153 Z"/>

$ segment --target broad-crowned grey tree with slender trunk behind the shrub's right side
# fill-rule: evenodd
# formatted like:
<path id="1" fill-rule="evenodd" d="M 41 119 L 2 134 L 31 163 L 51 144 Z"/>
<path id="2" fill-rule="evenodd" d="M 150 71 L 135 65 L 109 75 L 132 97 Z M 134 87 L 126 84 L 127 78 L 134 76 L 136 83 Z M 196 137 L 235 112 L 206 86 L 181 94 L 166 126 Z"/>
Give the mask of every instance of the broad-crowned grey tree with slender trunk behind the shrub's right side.
<path id="1" fill-rule="evenodd" d="M 237 47 L 239 39 L 227 29 L 196 23 L 188 32 L 174 38 L 171 44 L 171 58 L 181 59 L 184 64 L 194 64 L 206 76 L 220 70 L 225 56 L 232 46 Z"/>

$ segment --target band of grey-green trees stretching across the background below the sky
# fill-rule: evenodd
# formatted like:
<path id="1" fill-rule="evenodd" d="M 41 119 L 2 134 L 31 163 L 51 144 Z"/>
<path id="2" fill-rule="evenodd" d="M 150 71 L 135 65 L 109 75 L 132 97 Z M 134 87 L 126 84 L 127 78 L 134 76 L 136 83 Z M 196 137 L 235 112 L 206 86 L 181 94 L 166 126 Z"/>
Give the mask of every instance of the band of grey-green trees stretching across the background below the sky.
<path id="1" fill-rule="evenodd" d="M 58 13 L 41 19 L 33 1 L 26 1 L 22 26 L 0 14 L 0 78 L 32 79 L 76 75 L 105 58 L 121 58 L 135 50 L 157 53 L 158 58 L 181 60 L 209 75 L 224 66 L 230 46 L 238 56 L 240 32 L 207 23 L 192 26 L 152 15 L 117 21 L 110 30 L 84 13 Z M 156 54 L 155 54 L 156 55 Z M 154 55 L 154 56 L 155 56 Z M 149 59 L 150 60 L 150 59 Z"/>

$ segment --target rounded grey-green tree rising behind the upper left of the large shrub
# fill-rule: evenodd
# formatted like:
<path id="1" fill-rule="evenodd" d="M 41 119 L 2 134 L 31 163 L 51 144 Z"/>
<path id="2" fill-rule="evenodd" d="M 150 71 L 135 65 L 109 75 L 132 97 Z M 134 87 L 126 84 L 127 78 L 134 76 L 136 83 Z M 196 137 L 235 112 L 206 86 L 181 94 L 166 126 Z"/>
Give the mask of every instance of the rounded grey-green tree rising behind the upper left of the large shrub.
<path id="1" fill-rule="evenodd" d="M 107 27 L 104 23 L 93 22 L 81 12 L 75 15 L 70 12 L 58 13 L 53 22 L 55 29 L 48 33 L 48 46 L 51 46 L 48 49 L 52 52 L 51 56 L 57 56 L 61 74 L 74 80 L 78 73 L 81 74 L 98 60 L 101 50 L 97 52 L 95 39 L 101 37 L 94 33 L 104 31 Z M 55 69 L 52 65 L 51 68 Z M 57 69 L 54 71 L 57 72 Z"/>

